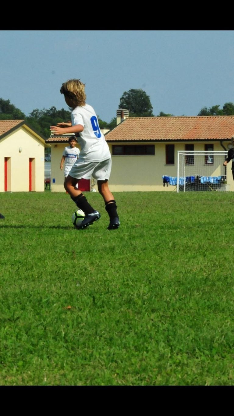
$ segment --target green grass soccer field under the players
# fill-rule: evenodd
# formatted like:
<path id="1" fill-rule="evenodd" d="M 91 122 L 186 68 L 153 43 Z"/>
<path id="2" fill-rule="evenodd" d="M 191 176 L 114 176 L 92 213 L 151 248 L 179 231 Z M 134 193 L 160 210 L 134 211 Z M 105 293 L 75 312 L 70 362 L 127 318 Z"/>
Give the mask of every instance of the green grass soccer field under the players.
<path id="1" fill-rule="evenodd" d="M 0 385 L 233 385 L 234 193 L 115 198 L 1 193 Z"/>

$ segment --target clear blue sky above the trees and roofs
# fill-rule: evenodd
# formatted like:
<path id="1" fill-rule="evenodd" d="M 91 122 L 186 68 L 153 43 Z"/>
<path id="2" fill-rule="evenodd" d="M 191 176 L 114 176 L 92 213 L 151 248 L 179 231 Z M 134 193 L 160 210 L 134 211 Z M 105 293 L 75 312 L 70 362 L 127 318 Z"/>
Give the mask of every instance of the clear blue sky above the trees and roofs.
<path id="1" fill-rule="evenodd" d="M 103 121 L 129 89 L 153 114 L 196 116 L 234 102 L 233 30 L 2 30 L 0 97 L 21 109 L 68 109 L 59 89 L 80 78 Z"/>

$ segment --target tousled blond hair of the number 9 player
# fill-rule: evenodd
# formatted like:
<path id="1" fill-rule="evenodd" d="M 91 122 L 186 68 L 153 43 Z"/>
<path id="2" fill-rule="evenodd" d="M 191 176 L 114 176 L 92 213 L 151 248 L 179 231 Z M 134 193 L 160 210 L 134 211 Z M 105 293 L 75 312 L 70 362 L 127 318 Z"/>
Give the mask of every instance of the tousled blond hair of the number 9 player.
<path id="1" fill-rule="evenodd" d="M 61 94 L 64 94 L 64 97 L 69 98 L 74 106 L 82 106 L 85 105 L 86 100 L 84 89 L 85 84 L 79 79 L 69 79 L 62 84 L 60 92 Z"/>

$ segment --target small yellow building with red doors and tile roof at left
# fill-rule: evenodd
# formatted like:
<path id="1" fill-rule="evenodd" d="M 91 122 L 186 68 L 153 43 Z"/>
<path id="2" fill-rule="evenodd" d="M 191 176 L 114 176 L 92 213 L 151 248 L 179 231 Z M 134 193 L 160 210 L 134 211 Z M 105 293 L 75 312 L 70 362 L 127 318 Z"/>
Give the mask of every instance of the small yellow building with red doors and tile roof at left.
<path id="1" fill-rule="evenodd" d="M 44 191 L 45 147 L 24 120 L 0 120 L 0 192 Z"/>

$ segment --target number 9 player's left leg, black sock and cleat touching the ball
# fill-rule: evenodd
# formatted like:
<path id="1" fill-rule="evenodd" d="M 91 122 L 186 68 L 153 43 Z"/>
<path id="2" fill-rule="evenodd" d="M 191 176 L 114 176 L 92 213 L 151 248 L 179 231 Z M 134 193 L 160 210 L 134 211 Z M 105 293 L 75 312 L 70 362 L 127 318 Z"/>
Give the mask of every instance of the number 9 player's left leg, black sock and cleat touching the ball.
<path id="1" fill-rule="evenodd" d="M 92 224 L 94 221 L 99 220 L 101 215 L 98 211 L 88 203 L 86 197 L 83 195 L 79 189 L 76 188 L 76 183 L 79 182 L 79 179 L 73 178 L 68 175 L 64 181 L 64 188 L 71 196 L 71 199 L 74 201 L 76 206 L 80 208 L 85 213 L 85 218 L 82 223 L 77 227 L 80 229 L 86 228 L 88 225 Z"/>

